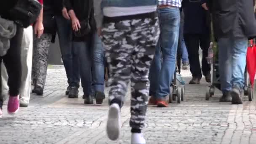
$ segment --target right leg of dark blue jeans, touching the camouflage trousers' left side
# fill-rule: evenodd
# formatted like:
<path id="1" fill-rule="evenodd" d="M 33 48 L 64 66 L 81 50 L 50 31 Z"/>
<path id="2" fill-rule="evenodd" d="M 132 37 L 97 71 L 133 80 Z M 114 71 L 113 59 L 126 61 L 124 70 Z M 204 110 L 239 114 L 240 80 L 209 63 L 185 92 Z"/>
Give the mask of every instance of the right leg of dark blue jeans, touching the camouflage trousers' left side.
<path id="1" fill-rule="evenodd" d="M 94 91 L 104 92 L 104 48 L 100 37 L 95 33 L 93 35 L 92 45 L 92 79 Z"/>

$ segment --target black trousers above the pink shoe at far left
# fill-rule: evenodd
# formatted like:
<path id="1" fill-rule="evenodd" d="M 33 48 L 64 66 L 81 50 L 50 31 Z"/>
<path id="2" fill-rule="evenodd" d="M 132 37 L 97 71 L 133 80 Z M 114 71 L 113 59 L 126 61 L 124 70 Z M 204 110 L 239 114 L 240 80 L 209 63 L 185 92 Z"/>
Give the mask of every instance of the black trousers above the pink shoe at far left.
<path id="1" fill-rule="evenodd" d="M 17 26 L 16 35 L 10 40 L 10 48 L 5 56 L 0 57 L 4 62 L 8 74 L 8 86 L 10 96 L 19 95 L 21 87 L 21 41 L 23 28 Z M 0 70 L 1 73 L 1 70 Z M 3 105 L 2 98 L 2 77 L 0 77 L 0 107 Z"/>

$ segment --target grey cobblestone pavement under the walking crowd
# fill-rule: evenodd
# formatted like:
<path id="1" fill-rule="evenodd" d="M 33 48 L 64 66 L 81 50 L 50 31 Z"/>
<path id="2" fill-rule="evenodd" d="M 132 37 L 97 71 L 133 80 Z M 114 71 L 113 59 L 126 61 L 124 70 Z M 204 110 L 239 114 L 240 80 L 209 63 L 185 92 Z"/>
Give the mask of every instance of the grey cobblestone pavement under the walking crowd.
<path id="1" fill-rule="evenodd" d="M 182 72 L 190 79 L 189 71 Z M 32 95 L 29 107 L 0 119 L 0 144 L 129 144 L 129 93 L 122 109 L 120 140 L 109 141 L 105 126 L 107 100 L 84 105 L 64 95 L 67 87 L 63 67 L 48 69 L 45 93 Z M 220 92 L 205 101 L 205 88 L 186 85 L 181 104 L 168 108 L 149 107 L 144 136 L 147 144 L 256 144 L 256 103 L 245 97 L 243 105 L 219 103 Z M 80 89 L 80 91 L 82 91 Z M 106 91 L 107 93 L 107 91 Z"/>

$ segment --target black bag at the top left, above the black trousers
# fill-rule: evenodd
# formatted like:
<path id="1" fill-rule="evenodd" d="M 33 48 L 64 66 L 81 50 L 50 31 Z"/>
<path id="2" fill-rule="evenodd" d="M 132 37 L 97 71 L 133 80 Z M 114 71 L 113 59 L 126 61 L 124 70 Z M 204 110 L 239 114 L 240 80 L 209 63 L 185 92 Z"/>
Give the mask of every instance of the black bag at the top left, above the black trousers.
<path id="1" fill-rule="evenodd" d="M 18 0 L 10 10 L 11 20 L 27 28 L 37 20 L 41 9 L 42 5 L 37 0 Z"/>

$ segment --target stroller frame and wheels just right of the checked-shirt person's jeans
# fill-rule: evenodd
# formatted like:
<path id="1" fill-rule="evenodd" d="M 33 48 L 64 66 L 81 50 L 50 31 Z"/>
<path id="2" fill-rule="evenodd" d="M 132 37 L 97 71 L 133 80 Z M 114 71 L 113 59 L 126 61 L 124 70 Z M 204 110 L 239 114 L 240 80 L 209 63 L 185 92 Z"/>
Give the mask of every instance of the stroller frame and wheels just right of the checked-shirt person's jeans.
<path id="1" fill-rule="evenodd" d="M 177 101 L 178 104 L 184 101 L 185 81 L 181 77 L 181 53 L 177 52 L 176 69 L 173 76 L 173 81 L 170 86 L 169 103 Z"/>

